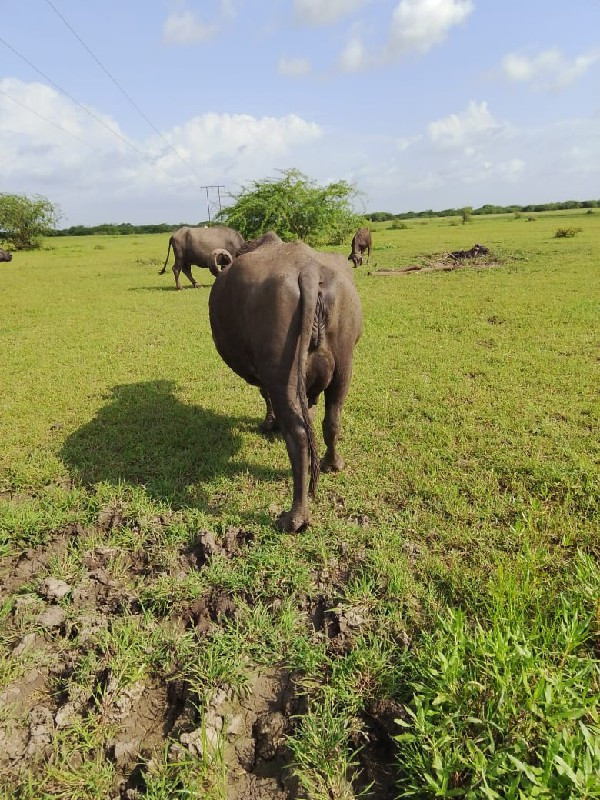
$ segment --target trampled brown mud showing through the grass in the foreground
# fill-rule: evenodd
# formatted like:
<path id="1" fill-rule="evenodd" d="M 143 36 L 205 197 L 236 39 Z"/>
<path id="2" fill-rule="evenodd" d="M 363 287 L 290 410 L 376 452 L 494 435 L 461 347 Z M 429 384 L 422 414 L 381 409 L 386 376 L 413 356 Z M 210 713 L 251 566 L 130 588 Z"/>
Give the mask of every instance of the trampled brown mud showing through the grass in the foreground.
<path id="1" fill-rule="evenodd" d="M 110 531 L 120 522 L 118 509 L 105 509 L 96 532 Z M 286 744 L 307 708 L 302 676 L 276 665 L 250 667 L 243 693 L 223 685 L 200 698 L 165 665 L 162 674 L 159 670 L 119 689 L 117 677 L 106 666 L 109 662 L 103 666 L 102 653 L 96 652 L 98 634 L 110 630 L 119 616 L 141 615 L 144 584 L 165 566 L 153 563 L 143 551 L 96 546 L 84 551 L 77 580 L 67 583 L 53 575 L 53 565 L 89 533 L 72 525 L 56 532 L 43 547 L 5 559 L 0 568 L 9 674 L 11 662 L 15 667 L 0 692 L 0 786 L 28 771 L 48 770 L 60 757 L 61 735 L 93 715 L 111 730 L 104 758 L 114 765 L 114 800 L 144 796 L 145 771 L 165 748 L 169 759 L 181 755 L 201 759 L 219 742 L 225 748 L 231 800 L 302 797 Z M 202 570 L 216 554 L 243 557 L 252 538 L 250 532 L 234 528 L 222 536 L 200 532 L 197 545 L 182 547 L 168 571 L 181 578 Z M 336 583 L 339 588 L 344 576 L 331 577 L 322 582 L 317 597 L 306 598 L 302 611 L 307 625 L 326 637 L 335 656 L 352 647 L 366 620 L 360 609 L 336 608 Z M 216 589 L 193 602 L 175 603 L 168 612 L 175 630 L 194 628 L 199 635 L 210 635 L 235 614 L 233 598 Z M 97 656 L 97 671 L 88 680 L 90 688 L 83 691 L 81 680 L 74 677 L 90 651 Z M 398 704 L 384 698 L 372 702 L 359 721 L 360 740 L 354 744 L 360 749 L 360 763 L 350 780 L 355 789 L 371 784 L 367 796 L 377 800 L 395 796 L 391 736 L 397 732 L 395 719 L 400 715 Z M 81 756 L 75 751 L 72 758 L 76 768 Z"/>

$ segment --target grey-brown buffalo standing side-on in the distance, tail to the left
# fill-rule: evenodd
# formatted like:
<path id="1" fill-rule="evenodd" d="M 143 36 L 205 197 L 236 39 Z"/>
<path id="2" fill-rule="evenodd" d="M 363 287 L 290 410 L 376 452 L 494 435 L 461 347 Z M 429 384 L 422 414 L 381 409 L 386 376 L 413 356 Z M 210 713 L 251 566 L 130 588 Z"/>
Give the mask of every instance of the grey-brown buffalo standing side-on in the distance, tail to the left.
<path id="1" fill-rule="evenodd" d="M 198 284 L 192 275 L 192 264 L 198 267 L 207 267 L 213 275 L 217 275 L 218 269 L 215 268 L 212 259 L 213 250 L 224 248 L 235 256 L 243 244 L 243 236 L 234 231 L 233 228 L 218 226 L 214 228 L 179 228 L 169 239 L 167 258 L 158 274 L 165 274 L 172 247 L 175 254 L 175 263 L 173 264 L 175 288 L 181 289 L 179 273 L 182 271 L 192 286 L 197 288 Z"/>

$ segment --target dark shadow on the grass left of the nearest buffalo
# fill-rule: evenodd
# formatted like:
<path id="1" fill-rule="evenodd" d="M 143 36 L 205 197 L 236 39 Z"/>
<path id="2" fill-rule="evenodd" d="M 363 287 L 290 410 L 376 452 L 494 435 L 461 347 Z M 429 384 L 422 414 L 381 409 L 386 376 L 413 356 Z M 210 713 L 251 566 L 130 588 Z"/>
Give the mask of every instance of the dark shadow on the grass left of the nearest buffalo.
<path id="1" fill-rule="evenodd" d="M 173 508 L 211 512 L 206 482 L 240 471 L 264 480 L 281 477 L 235 459 L 241 432 L 256 429 L 256 422 L 186 405 L 175 388 L 172 381 L 114 386 L 109 402 L 63 445 L 61 457 L 73 477 L 86 486 L 143 485 L 149 498 Z"/>

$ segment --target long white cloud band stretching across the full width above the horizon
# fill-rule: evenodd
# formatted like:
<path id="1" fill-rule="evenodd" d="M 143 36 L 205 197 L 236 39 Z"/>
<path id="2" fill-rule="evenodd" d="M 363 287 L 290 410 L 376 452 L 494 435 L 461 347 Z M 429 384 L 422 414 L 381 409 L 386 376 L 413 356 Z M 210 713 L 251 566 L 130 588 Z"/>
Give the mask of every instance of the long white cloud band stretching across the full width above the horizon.
<path id="1" fill-rule="evenodd" d="M 54 89 L 0 79 L 2 190 L 46 195 L 62 207 L 64 225 L 198 221 L 206 218 L 201 185 L 225 184 L 226 195 L 288 167 L 319 183 L 356 183 L 367 210 L 393 212 L 585 199 L 596 197 L 600 180 L 597 118 L 516 129 L 479 101 L 388 135 L 361 134 L 342 120 L 322 128 L 293 114 L 207 113 L 163 136 L 176 152 L 151 133 L 132 139 L 135 152 Z"/>

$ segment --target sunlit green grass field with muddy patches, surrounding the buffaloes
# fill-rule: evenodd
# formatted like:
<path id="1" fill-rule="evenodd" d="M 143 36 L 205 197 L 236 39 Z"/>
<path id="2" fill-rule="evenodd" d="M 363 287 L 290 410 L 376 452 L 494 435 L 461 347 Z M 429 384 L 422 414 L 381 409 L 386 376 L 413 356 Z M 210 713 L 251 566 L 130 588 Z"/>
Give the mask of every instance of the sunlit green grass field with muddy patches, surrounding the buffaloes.
<path id="1" fill-rule="evenodd" d="M 0 265 L 2 797 L 600 797 L 600 213 L 535 216 L 372 226 L 347 469 L 295 535 L 207 270 Z"/>

